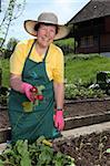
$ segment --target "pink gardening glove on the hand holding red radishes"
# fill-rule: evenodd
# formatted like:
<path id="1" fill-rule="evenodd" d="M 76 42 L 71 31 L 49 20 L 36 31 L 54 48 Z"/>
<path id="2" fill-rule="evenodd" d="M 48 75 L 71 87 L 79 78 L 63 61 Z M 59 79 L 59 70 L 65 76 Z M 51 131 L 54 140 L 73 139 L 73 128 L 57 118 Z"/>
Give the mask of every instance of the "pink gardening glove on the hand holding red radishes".
<path id="1" fill-rule="evenodd" d="M 21 89 L 22 89 L 22 93 L 26 94 L 29 101 L 33 102 L 34 98 L 32 97 L 32 92 L 31 92 L 32 85 L 29 83 L 22 83 Z"/>

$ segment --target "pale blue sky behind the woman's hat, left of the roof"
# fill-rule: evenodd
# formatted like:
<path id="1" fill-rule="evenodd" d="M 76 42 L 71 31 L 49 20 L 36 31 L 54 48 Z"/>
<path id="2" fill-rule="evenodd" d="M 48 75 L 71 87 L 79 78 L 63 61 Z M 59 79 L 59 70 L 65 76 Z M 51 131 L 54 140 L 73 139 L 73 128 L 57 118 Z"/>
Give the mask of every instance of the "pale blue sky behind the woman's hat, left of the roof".
<path id="1" fill-rule="evenodd" d="M 7 3 L 8 1 L 9 0 L 6 0 Z M 19 2 L 21 0 L 19 0 Z M 10 38 L 16 38 L 18 40 L 32 38 L 23 29 L 24 20 L 37 20 L 41 12 L 50 11 L 58 15 L 59 24 L 64 24 L 72 19 L 89 1 L 90 0 L 26 0 L 22 15 L 14 20 L 10 27 L 8 40 Z"/>

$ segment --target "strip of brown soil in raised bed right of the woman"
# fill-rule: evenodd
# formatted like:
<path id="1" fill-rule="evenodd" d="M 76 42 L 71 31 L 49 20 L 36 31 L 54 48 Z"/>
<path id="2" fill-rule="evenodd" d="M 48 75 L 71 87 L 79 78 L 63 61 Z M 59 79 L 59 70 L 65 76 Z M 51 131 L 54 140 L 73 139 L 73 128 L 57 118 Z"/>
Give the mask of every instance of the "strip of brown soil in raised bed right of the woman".
<path id="1" fill-rule="evenodd" d="M 110 97 L 74 101 L 66 100 L 64 111 L 66 117 L 108 113 L 110 112 Z"/>

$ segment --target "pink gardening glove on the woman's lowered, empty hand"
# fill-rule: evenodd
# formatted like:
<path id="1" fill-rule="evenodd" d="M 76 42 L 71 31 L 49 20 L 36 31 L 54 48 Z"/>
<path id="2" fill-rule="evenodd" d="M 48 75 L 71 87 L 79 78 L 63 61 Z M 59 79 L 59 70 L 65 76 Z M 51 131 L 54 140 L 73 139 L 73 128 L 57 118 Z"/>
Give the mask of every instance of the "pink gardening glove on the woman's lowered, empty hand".
<path id="1" fill-rule="evenodd" d="M 56 115 L 53 116 L 54 120 L 54 126 L 62 131 L 64 128 L 64 120 L 63 120 L 63 112 L 62 111 L 56 111 Z"/>

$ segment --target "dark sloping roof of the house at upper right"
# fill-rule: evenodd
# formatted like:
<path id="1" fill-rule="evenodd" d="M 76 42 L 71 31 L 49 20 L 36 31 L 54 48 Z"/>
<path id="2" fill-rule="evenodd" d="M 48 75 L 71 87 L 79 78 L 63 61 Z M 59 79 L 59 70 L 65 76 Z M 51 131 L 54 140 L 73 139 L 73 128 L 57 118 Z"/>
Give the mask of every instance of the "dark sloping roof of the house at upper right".
<path id="1" fill-rule="evenodd" d="M 69 22 L 78 23 L 110 15 L 110 0 L 90 0 Z"/>

